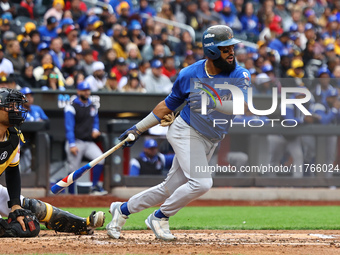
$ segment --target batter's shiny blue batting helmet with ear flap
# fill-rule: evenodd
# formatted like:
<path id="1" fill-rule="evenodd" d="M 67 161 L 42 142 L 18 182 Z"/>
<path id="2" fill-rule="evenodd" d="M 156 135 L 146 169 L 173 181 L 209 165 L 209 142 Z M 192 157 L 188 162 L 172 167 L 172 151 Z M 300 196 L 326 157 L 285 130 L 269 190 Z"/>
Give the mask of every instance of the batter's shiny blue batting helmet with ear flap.
<path id="1" fill-rule="evenodd" d="M 204 54 L 215 60 L 221 56 L 219 46 L 230 46 L 241 41 L 234 38 L 233 30 L 230 27 L 215 25 L 204 31 L 202 42 Z"/>

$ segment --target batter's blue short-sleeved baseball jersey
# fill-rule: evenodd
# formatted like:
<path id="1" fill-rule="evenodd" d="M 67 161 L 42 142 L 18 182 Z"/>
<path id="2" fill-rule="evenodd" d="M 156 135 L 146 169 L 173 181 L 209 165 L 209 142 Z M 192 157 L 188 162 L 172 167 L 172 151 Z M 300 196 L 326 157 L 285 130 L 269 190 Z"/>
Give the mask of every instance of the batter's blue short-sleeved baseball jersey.
<path id="1" fill-rule="evenodd" d="M 229 75 L 221 73 L 212 76 L 213 79 L 209 79 L 204 68 L 205 62 L 205 59 L 200 60 L 180 71 L 171 93 L 165 99 L 165 104 L 170 110 L 176 110 L 184 101 L 189 102 L 188 97 L 190 93 L 204 93 L 202 92 L 202 87 L 204 91 L 208 91 L 209 94 L 216 98 L 217 104 L 220 103 L 219 99 L 222 101 L 232 99 L 230 90 L 216 87 L 217 84 L 221 83 L 238 87 L 244 95 L 245 102 L 247 102 L 248 88 L 251 84 L 250 73 L 247 69 L 236 64 L 236 68 Z M 201 83 L 201 86 L 197 86 L 198 83 Z M 209 110 L 208 114 L 203 115 L 201 112 L 190 110 L 187 104 L 181 111 L 181 117 L 188 125 L 207 138 L 221 140 L 224 134 L 228 133 L 230 120 L 235 116 L 226 115 L 216 110 Z M 214 126 L 214 119 L 223 119 L 226 120 L 225 122 L 228 122 L 227 124 L 216 124 Z"/>

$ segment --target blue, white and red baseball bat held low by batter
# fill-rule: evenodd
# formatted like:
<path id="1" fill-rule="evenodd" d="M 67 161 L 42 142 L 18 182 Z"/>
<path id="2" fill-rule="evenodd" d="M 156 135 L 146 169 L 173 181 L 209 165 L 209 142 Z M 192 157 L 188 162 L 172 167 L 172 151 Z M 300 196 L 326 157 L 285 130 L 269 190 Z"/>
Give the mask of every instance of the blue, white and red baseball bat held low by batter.
<path id="1" fill-rule="evenodd" d="M 111 153 L 118 150 L 120 147 L 124 145 L 125 142 L 134 141 L 135 136 L 133 134 L 129 134 L 123 141 L 118 143 L 116 146 L 112 147 L 108 151 L 106 151 L 104 154 L 100 155 L 99 157 L 95 158 L 91 162 L 87 163 L 85 166 L 82 166 L 78 170 L 73 171 L 68 176 L 66 176 L 64 179 L 60 180 L 56 184 L 54 184 L 51 188 L 51 191 L 53 194 L 58 194 L 61 191 L 63 191 L 66 187 L 70 186 L 74 181 L 79 179 L 83 174 L 85 174 L 88 170 L 90 170 L 92 167 L 97 165 L 100 161 L 102 161 L 104 158 L 109 156 Z"/>

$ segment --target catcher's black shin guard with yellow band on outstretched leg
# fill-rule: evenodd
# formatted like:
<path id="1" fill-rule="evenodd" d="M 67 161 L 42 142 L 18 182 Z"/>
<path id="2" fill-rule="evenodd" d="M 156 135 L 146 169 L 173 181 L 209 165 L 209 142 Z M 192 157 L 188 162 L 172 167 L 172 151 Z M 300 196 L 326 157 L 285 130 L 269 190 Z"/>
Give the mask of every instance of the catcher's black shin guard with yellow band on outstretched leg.
<path id="1" fill-rule="evenodd" d="M 75 233 L 77 235 L 92 234 L 93 229 L 88 228 L 89 220 L 63 211 L 48 203 L 37 199 L 24 198 L 23 208 L 31 210 L 40 222 L 56 232 Z"/>

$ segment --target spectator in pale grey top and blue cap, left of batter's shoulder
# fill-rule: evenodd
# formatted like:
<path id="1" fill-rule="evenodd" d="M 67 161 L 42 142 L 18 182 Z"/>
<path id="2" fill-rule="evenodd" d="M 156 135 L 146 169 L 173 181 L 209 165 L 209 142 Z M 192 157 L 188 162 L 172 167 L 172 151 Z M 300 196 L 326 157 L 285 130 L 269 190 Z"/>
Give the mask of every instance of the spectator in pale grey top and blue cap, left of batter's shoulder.
<path id="1" fill-rule="evenodd" d="M 172 89 L 170 79 L 162 74 L 163 64 L 156 59 L 151 62 L 151 72 L 147 72 L 142 82 L 148 93 L 169 93 Z"/>

